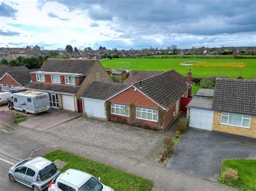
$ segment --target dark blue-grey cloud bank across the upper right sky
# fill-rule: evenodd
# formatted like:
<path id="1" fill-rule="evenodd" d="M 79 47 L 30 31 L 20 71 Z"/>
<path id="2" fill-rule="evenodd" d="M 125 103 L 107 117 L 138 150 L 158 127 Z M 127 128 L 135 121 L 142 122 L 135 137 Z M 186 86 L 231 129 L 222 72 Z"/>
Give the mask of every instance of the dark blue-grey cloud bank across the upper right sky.
<path id="1" fill-rule="evenodd" d="M 46 1 L 41 0 L 39 4 L 43 6 Z M 254 0 L 49 1 L 64 4 L 71 10 L 87 11 L 93 20 L 112 20 L 119 25 L 118 30 L 131 26 L 144 34 L 161 31 L 212 35 L 256 30 Z"/>

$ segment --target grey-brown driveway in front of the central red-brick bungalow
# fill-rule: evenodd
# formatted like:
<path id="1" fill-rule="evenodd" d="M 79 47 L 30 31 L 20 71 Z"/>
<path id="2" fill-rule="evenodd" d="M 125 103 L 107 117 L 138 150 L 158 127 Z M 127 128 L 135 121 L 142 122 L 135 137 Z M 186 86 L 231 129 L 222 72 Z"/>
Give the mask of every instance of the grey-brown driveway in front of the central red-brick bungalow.
<path id="1" fill-rule="evenodd" d="M 87 145 L 126 154 L 136 159 L 145 159 L 146 155 L 156 147 L 164 136 L 163 132 L 87 117 L 79 117 L 45 131 Z"/>

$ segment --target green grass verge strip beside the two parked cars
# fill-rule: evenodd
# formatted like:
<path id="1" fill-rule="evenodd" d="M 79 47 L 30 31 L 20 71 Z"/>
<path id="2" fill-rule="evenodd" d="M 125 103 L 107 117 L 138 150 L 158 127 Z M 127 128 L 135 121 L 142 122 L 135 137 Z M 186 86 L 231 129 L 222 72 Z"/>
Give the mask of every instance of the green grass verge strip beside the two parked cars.
<path id="1" fill-rule="evenodd" d="M 96 178 L 100 177 L 100 181 L 104 185 L 110 186 L 114 190 L 152 190 L 153 188 L 153 182 L 149 179 L 66 151 L 56 150 L 44 154 L 43 157 L 51 161 L 56 159 L 65 161 L 66 165 L 60 169 L 60 172 L 69 168 L 78 169 L 92 174 Z"/>

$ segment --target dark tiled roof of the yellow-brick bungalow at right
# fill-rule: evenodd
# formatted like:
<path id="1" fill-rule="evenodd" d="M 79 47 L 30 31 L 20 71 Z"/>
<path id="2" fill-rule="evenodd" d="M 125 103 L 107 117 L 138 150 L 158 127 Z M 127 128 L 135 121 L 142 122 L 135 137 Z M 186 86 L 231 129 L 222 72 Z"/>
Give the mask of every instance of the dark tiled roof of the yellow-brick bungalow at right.
<path id="1" fill-rule="evenodd" d="M 217 78 L 212 109 L 256 115 L 256 80 Z"/>

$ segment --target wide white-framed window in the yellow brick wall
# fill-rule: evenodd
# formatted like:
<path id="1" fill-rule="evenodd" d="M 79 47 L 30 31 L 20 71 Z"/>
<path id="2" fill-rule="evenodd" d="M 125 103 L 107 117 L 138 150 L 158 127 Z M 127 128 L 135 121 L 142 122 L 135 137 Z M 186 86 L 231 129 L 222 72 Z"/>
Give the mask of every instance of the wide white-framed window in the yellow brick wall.
<path id="1" fill-rule="evenodd" d="M 250 129 L 251 116 L 235 113 L 221 113 L 220 124 Z"/>

